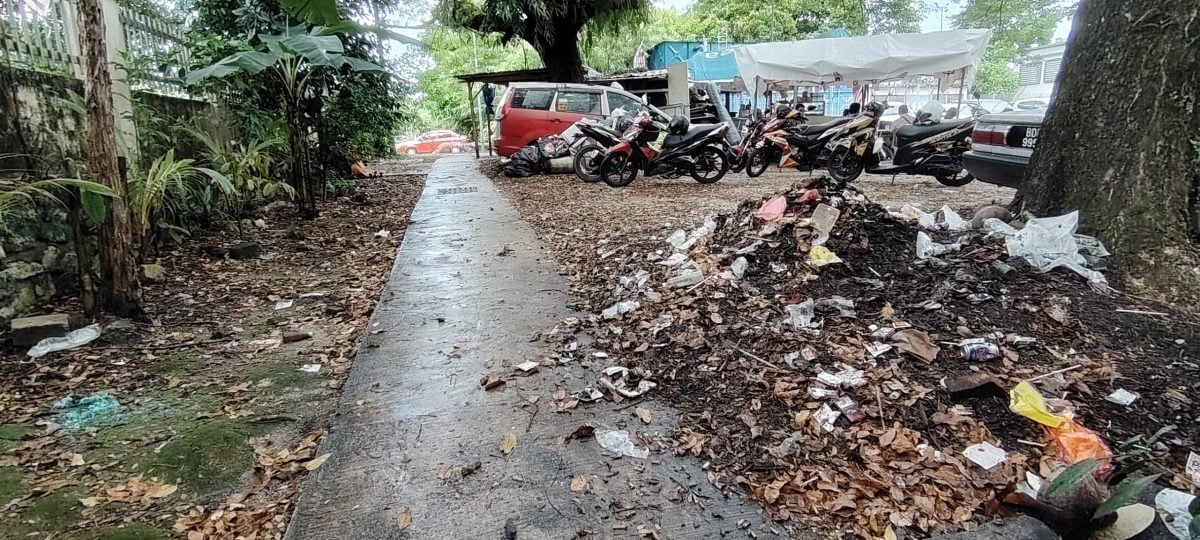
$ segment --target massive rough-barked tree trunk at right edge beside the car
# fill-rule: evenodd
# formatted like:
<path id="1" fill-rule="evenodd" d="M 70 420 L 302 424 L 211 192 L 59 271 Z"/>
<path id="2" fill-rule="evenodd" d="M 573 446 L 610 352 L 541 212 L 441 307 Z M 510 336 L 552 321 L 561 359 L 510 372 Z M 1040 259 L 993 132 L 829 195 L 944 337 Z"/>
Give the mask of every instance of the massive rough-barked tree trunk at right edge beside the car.
<path id="1" fill-rule="evenodd" d="M 1020 193 L 1037 215 L 1079 210 L 1120 270 L 1175 298 L 1200 292 L 1190 271 L 1200 260 L 1198 47 L 1194 2 L 1084 0 Z"/>

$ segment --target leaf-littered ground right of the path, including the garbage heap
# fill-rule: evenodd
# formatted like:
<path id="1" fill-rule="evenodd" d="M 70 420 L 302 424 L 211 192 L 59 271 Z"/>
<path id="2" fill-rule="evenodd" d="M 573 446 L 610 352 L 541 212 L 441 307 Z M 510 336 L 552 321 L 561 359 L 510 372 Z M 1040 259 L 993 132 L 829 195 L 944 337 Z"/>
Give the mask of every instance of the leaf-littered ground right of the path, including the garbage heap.
<path id="1" fill-rule="evenodd" d="M 1009 410 L 1021 380 L 1106 439 L 1118 468 L 1194 487 L 1194 314 L 1039 272 L 983 232 L 922 230 L 820 178 L 715 215 L 679 194 L 712 186 L 614 200 L 542 181 L 497 179 L 593 313 L 592 346 L 653 373 L 647 396 L 683 412 L 676 451 L 781 522 L 924 538 L 1018 511 L 1003 500 L 1026 472 L 1064 466 Z M 973 210 L 958 210 L 967 227 Z M 918 258 L 918 233 L 956 247 Z"/>

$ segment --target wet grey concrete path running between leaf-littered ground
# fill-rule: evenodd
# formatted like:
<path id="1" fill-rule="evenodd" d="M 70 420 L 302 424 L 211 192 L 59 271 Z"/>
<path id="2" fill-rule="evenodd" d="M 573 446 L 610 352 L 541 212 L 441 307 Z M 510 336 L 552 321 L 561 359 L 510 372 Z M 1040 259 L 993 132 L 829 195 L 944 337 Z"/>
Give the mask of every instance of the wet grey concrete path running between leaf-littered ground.
<path id="1" fill-rule="evenodd" d="M 533 337 L 571 313 L 553 257 L 474 160 L 434 163 L 412 218 L 322 444 L 332 456 L 304 484 L 289 540 L 774 536 L 698 460 L 562 443 L 584 424 L 652 437 L 674 427 L 654 403 L 640 404 L 650 425 L 608 402 L 553 412 L 556 385 L 594 386 L 604 365 L 480 388 L 490 371 L 552 354 Z M 571 490 L 576 476 L 584 490 Z"/>

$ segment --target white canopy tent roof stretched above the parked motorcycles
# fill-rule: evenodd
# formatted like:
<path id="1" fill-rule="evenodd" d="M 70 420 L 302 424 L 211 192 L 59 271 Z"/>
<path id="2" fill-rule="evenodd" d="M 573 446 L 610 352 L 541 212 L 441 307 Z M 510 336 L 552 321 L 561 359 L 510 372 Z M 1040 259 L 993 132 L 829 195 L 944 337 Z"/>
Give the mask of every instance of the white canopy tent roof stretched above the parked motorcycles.
<path id="1" fill-rule="evenodd" d="M 805 85 L 859 85 L 914 76 L 974 79 L 991 30 L 829 37 L 733 48 L 742 79 Z"/>

